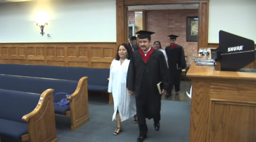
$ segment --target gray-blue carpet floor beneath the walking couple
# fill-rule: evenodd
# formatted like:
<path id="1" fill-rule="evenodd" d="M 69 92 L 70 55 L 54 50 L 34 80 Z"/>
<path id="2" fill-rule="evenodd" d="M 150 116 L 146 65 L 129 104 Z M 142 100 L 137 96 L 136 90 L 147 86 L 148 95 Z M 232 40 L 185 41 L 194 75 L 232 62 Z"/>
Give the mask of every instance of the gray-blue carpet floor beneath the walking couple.
<path id="1" fill-rule="evenodd" d="M 114 136 L 113 105 L 89 99 L 90 121 L 76 131 L 70 130 L 70 118 L 56 115 L 58 142 L 136 142 L 138 124 L 133 118 L 122 123 L 123 131 Z M 160 130 L 155 131 L 153 119 L 147 120 L 148 137 L 144 142 L 188 142 L 190 102 L 162 101 Z M 17 142 L 1 138 L 2 142 Z"/>

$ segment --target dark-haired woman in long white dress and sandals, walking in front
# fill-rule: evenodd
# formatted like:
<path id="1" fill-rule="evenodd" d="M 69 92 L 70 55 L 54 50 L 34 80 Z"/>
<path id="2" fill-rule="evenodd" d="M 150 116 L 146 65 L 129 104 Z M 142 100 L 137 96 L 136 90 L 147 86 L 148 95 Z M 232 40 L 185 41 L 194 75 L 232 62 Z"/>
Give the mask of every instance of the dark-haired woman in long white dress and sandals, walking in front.
<path id="1" fill-rule="evenodd" d="M 108 92 L 112 93 L 114 100 L 114 114 L 112 121 L 116 119 L 117 129 L 113 135 L 122 131 L 121 122 L 131 117 L 136 118 L 135 96 L 129 95 L 126 88 L 128 66 L 131 58 L 131 50 L 127 44 L 118 46 L 116 58 L 110 65 Z M 135 119 L 136 121 L 137 119 Z"/>

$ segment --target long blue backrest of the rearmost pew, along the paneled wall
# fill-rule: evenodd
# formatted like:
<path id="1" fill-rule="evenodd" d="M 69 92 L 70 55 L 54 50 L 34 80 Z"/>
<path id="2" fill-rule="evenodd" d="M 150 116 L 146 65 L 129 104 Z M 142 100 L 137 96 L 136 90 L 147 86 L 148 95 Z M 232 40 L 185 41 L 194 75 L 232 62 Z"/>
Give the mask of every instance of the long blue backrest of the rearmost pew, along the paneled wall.
<path id="1" fill-rule="evenodd" d="M 108 86 L 110 69 L 82 68 L 70 66 L 0 64 L 0 74 L 55 78 L 79 81 L 88 77 L 88 84 Z"/>

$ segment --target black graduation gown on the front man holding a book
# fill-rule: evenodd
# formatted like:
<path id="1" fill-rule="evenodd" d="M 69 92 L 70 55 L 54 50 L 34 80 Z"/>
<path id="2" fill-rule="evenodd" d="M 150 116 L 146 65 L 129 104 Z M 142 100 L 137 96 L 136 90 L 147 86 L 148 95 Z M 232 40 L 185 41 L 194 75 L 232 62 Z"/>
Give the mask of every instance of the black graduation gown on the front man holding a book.
<path id="1" fill-rule="evenodd" d="M 167 74 L 166 60 L 162 52 L 154 50 L 146 63 L 139 50 L 133 52 L 127 73 L 127 89 L 135 92 L 138 123 L 160 114 L 161 95 L 157 84 L 162 81 L 163 89 L 167 90 Z"/>

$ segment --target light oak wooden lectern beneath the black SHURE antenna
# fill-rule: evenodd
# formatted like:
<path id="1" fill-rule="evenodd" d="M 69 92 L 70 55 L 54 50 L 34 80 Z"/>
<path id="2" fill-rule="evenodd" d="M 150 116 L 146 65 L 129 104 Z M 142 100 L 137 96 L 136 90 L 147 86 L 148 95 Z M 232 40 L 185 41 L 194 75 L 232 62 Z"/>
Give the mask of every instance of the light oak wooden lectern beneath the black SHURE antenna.
<path id="1" fill-rule="evenodd" d="M 192 80 L 189 142 L 256 142 L 256 73 L 188 70 Z"/>

